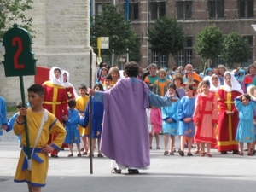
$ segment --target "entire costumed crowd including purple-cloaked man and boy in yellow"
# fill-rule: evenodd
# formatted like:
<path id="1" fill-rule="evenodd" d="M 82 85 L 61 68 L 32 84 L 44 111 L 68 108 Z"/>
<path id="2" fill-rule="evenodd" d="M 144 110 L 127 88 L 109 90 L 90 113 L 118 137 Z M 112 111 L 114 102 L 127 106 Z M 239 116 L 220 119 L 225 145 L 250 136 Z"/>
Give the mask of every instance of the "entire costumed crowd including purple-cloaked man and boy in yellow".
<path id="1" fill-rule="evenodd" d="M 113 173 L 126 168 L 129 173 L 138 173 L 138 169 L 150 165 L 154 137 L 156 149 L 161 149 L 161 133 L 164 155 L 178 152 L 184 156 L 185 147 L 188 156 L 212 157 L 211 148 L 218 148 L 221 154 L 244 155 L 244 143 L 247 155 L 255 154 L 256 63 L 233 71 L 219 65 L 207 68 L 205 74 L 193 70 L 191 64 L 168 70 L 153 63 L 147 69 L 145 73 L 136 62 L 128 62 L 120 73 L 118 67 L 102 62 L 96 70 L 94 88 L 79 84 L 78 96 L 69 82 L 69 73 L 52 67 L 49 81 L 33 84 L 27 90 L 30 108 L 17 105 L 18 112 L 9 121 L 0 97 L 1 129 L 14 129 L 22 148 L 15 181 L 25 181 L 29 189 L 42 187 L 46 174 L 30 174 L 36 174 L 33 169 L 48 169 L 47 154 L 57 158 L 61 148 L 69 148 L 68 157 L 73 157 L 76 144 L 78 157 L 93 157 L 96 141 L 97 157 L 106 155 L 111 159 Z M 30 146 L 26 146 L 24 116 Z M 177 138 L 179 146 L 175 146 Z M 193 152 L 192 144 L 196 145 Z M 26 156 L 28 150 L 32 151 L 32 165 Z"/>

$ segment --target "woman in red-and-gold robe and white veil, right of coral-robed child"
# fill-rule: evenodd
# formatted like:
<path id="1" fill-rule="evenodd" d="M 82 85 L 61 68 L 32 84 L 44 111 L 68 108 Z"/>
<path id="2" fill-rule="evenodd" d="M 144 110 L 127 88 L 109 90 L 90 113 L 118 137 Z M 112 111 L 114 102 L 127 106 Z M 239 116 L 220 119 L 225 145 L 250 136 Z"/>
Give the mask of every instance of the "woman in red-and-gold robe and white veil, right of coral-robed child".
<path id="1" fill-rule="evenodd" d="M 227 154 L 233 151 L 238 154 L 238 142 L 236 141 L 236 129 L 239 121 L 235 107 L 236 96 L 241 96 L 243 90 L 236 78 L 230 72 L 224 73 L 224 85 L 218 90 L 218 151 Z"/>

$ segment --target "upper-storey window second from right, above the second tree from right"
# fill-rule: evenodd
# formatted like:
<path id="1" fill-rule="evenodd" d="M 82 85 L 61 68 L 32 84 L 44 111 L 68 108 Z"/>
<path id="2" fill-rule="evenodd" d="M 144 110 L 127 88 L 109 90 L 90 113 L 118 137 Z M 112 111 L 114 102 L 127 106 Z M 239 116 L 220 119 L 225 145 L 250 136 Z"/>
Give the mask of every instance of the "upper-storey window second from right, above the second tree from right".
<path id="1" fill-rule="evenodd" d="M 208 1 L 209 18 L 218 20 L 224 18 L 224 0 Z"/>

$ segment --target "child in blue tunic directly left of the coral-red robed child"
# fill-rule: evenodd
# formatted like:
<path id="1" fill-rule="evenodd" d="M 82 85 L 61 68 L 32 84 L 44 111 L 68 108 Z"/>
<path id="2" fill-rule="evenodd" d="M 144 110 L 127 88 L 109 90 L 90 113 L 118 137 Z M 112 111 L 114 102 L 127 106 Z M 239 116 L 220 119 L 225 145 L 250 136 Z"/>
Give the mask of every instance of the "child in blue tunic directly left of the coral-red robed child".
<path id="1" fill-rule="evenodd" d="M 191 154 L 191 146 L 193 142 L 193 137 L 195 135 L 195 126 L 193 124 L 193 113 L 195 110 L 195 97 L 193 96 L 193 87 L 187 85 L 185 87 L 185 92 L 187 96 L 184 96 L 177 107 L 177 118 L 178 123 L 178 135 L 181 136 L 181 150 L 179 154 L 184 155 L 184 145 L 186 142 L 186 137 L 188 137 L 188 156 Z"/>

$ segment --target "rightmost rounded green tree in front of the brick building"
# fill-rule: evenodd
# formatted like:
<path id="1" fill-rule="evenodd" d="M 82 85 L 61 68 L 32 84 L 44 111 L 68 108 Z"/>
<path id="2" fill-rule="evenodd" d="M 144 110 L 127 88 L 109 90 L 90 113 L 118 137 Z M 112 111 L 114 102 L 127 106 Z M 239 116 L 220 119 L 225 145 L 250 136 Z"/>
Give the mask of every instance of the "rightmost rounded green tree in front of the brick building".
<path id="1" fill-rule="evenodd" d="M 248 61 L 250 57 L 250 45 L 247 39 L 243 38 L 237 32 L 231 32 L 224 38 L 221 59 L 233 67 L 234 63 Z"/>

